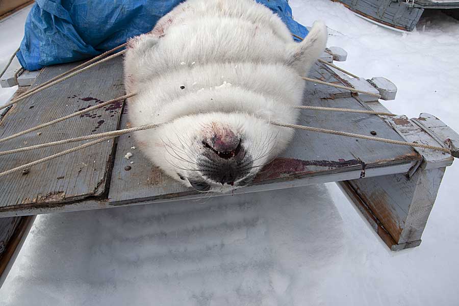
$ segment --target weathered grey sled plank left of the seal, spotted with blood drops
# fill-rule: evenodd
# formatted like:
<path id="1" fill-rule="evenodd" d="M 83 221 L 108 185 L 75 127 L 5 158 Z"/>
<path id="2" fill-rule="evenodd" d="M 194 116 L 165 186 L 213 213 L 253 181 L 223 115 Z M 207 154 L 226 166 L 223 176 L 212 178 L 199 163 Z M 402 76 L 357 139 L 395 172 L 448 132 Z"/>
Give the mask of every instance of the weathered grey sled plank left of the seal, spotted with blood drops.
<path id="1" fill-rule="evenodd" d="M 78 63 L 46 67 L 36 84 L 76 66 Z M 0 122 L 0 138 L 29 129 L 102 101 L 124 94 L 122 64 L 117 58 L 75 75 L 14 105 Z M 27 135 L 3 142 L 2 150 L 66 138 L 108 132 L 118 128 L 122 103 L 73 117 Z M 56 154 L 81 143 L 70 143 L 0 157 L 0 170 Z M 58 159 L 36 165 L 27 174 L 0 177 L 0 208 L 62 205 L 63 202 L 97 196 L 105 192 L 111 169 L 113 140 L 97 144 Z"/>

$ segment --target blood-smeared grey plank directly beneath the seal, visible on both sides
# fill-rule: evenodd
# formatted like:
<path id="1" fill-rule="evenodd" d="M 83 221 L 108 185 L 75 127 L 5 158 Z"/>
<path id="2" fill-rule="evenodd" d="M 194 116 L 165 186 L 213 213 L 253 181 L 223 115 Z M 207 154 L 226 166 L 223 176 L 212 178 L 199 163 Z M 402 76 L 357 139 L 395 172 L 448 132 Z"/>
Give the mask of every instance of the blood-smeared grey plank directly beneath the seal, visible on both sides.
<path id="1" fill-rule="evenodd" d="M 316 66 L 312 75 L 313 78 L 340 82 L 329 69 L 322 65 Z M 336 88 L 308 82 L 307 90 L 304 93 L 304 105 L 368 108 L 351 97 L 349 92 L 346 93 L 348 97 L 338 97 L 341 94 L 346 96 L 344 92 Z M 122 117 L 121 126 L 123 127 L 129 125 L 125 117 L 124 115 Z M 302 110 L 299 124 L 369 136 L 374 131 L 378 137 L 403 140 L 376 115 Z M 191 195 L 199 197 L 193 189 L 185 188 L 163 174 L 142 155 L 138 148 L 132 149 L 134 146 L 136 143 L 131 135 L 121 136 L 118 140 L 108 198 L 110 203 L 123 205 L 127 202 L 162 201 Z M 129 160 L 123 158 L 127 152 L 133 154 Z M 337 173 L 352 171 L 358 171 L 360 177 L 365 177 L 366 171 L 379 167 L 404 164 L 407 165 L 404 168 L 407 170 L 410 165 L 420 159 L 420 155 L 411 147 L 296 131 L 287 151 L 268 165 L 266 171 L 256 177 L 253 185 L 290 182 L 320 175 L 331 177 Z M 379 175 L 384 175 L 382 173 Z M 341 179 L 334 176 L 334 180 L 346 180 L 346 175 L 343 175 Z M 289 183 L 286 183 L 286 186 L 290 186 Z"/>

